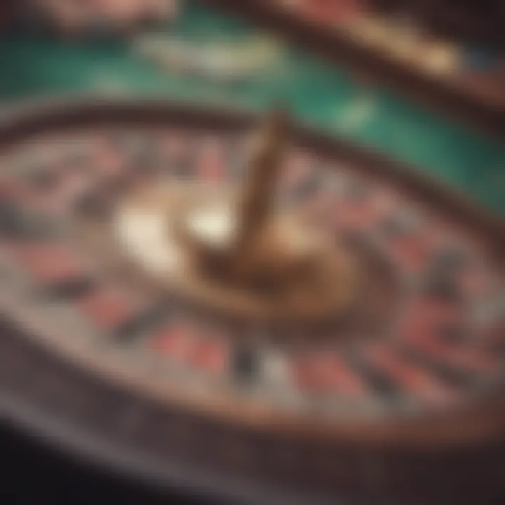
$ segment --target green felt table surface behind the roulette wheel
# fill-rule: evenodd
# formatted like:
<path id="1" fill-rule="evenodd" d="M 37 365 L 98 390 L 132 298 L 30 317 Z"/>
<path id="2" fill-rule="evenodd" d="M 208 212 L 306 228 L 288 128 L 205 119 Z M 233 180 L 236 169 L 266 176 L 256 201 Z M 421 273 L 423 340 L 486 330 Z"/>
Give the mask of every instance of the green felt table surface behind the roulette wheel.
<path id="1" fill-rule="evenodd" d="M 253 45 L 262 34 L 187 2 L 166 31 L 206 50 Z M 505 146 L 424 111 L 377 86 L 354 81 L 313 56 L 278 41 L 266 72 L 225 83 L 161 69 L 137 56 L 130 41 L 62 43 L 37 34 L 0 39 L 0 97 L 100 93 L 166 96 L 262 109 L 281 98 L 305 122 L 382 149 L 462 189 L 505 214 Z"/>

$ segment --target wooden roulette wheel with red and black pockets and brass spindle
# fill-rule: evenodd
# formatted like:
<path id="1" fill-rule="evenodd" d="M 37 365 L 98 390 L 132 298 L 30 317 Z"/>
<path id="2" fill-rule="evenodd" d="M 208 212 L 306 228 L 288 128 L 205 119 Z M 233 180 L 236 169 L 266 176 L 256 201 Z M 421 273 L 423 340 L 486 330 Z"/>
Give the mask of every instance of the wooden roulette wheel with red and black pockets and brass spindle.
<path id="1" fill-rule="evenodd" d="M 2 417 L 240 503 L 499 503 L 503 221 L 283 111 L 253 125 L 2 119 Z"/>

